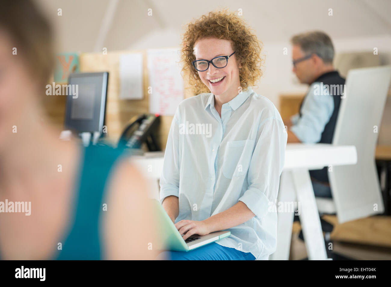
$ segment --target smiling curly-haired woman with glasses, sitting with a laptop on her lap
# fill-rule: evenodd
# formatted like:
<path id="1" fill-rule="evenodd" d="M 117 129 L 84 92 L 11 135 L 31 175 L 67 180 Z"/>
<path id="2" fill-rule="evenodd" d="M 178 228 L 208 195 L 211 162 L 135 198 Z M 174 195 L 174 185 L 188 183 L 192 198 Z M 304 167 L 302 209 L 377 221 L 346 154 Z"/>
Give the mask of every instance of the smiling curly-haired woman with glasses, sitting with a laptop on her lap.
<path id="1" fill-rule="evenodd" d="M 160 201 L 183 239 L 219 230 L 231 236 L 163 252 L 172 260 L 268 260 L 276 250 L 273 206 L 287 133 L 273 103 L 252 89 L 262 75 L 260 44 L 226 11 L 203 15 L 183 35 L 183 71 L 196 96 L 172 120 Z M 187 132 L 190 125 L 208 132 Z"/>

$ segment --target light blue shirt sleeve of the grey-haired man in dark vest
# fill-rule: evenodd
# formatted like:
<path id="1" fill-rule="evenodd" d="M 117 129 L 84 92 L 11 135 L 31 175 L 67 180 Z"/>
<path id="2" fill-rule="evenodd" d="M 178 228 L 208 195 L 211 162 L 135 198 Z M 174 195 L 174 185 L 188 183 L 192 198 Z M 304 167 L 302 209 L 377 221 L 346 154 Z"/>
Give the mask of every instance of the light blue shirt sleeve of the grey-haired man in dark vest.
<path id="1" fill-rule="evenodd" d="M 291 127 L 302 143 L 318 143 L 334 111 L 333 97 L 326 91 L 316 93 L 316 85 L 319 84 L 311 85 L 301 107 L 301 117 Z"/>

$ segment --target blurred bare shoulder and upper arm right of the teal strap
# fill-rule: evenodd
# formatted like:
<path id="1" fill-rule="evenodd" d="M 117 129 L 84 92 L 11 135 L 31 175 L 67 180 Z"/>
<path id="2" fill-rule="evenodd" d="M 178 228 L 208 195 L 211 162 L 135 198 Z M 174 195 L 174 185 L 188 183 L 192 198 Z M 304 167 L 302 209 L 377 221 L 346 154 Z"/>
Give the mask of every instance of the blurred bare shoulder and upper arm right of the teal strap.
<path id="1" fill-rule="evenodd" d="M 103 213 L 107 259 L 154 259 L 154 219 L 146 179 L 129 160 L 119 160 L 111 170 Z M 137 236 L 135 236 L 137 234 Z"/>

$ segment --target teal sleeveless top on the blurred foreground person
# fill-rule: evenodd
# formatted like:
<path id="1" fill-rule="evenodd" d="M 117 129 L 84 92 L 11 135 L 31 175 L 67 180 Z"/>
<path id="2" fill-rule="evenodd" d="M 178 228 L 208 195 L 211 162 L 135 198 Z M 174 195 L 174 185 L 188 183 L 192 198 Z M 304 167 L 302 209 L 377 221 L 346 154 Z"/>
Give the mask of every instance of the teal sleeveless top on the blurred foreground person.
<path id="1" fill-rule="evenodd" d="M 53 247 L 56 251 L 52 260 L 104 259 L 99 217 L 104 215 L 106 184 L 116 160 L 130 156 L 127 150 L 107 145 L 80 148 L 81 160 L 72 198 L 71 218 L 59 242 L 61 248 L 60 245 Z"/>

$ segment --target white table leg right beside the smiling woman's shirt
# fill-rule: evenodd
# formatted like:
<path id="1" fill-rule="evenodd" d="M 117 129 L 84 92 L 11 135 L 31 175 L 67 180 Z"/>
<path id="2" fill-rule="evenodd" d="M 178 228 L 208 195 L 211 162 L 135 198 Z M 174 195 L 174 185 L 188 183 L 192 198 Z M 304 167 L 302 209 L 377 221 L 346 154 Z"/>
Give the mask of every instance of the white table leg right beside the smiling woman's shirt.
<path id="1" fill-rule="evenodd" d="M 289 203 L 294 201 L 296 201 L 296 192 L 293 185 L 292 171 L 283 170 L 280 177 L 277 207 L 278 203 L 289 205 Z M 269 260 L 289 260 L 293 216 L 293 210 L 283 210 L 283 212 L 277 213 L 277 248 Z"/>

